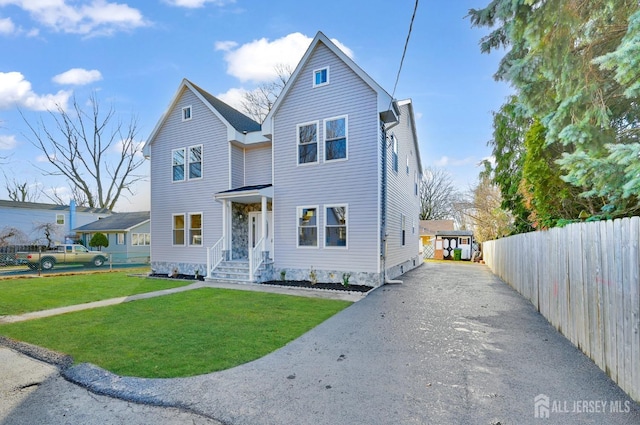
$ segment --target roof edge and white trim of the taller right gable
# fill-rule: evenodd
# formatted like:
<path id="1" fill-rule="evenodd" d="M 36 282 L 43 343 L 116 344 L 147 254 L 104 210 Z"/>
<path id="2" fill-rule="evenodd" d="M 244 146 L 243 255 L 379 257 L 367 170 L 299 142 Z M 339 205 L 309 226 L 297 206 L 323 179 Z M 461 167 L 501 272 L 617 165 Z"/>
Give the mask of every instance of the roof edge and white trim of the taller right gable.
<path id="1" fill-rule="evenodd" d="M 381 115 L 381 118 L 384 119 L 385 122 L 394 122 L 398 120 L 398 106 L 396 102 L 391 97 L 389 93 L 387 93 L 378 83 L 376 83 L 373 78 L 369 76 L 362 68 L 356 64 L 353 59 L 347 56 L 334 42 L 329 40 L 329 38 L 324 35 L 321 31 L 318 31 L 313 41 L 307 48 L 307 51 L 302 56 L 302 59 L 296 66 L 296 69 L 291 74 L 291 77 L 285 84 L 282 92 L 278 95 L 278 98 L 273 104 L 271 111 L 267 114 L 264 122 L 262 123 L 262 133 L 265 135 L 272 133 L 271 128 L 271 119 L 273 115 L 277 112 L 280 104 L 282 103 L 282 99 L 287 97 L 287 93 L 291 90 L 291 87 L 294 85 L 295 81 L 297 81 L 302 69 L 305 67 L 307 62 L 311 59 L 311 55 L 315 51 L 316 47 L 319 43 L 324 44 L 329 50 L 331 50 L 342 62 L 344 62 L 353 72 L 355 72 L 365 83 L 367 83 L 377 94 L 378 94 L 378 112 Z"/>

